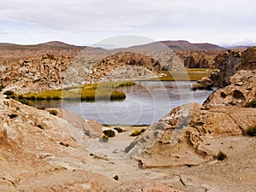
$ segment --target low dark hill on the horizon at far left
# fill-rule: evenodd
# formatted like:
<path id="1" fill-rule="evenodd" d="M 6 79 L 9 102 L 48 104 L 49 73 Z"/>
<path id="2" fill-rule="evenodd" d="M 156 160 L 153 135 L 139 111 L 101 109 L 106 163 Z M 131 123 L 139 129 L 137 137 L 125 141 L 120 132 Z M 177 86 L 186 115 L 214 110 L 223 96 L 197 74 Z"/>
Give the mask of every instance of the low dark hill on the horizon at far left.
<path id="1" fill-rule="evenodd" d="M 73 44 L 65 44 L 59 41 L 50 41 L 44 44 L 21 45 L 0 43 L 0 49 L 84 49 L 85 46 L 77 46 Z"/>

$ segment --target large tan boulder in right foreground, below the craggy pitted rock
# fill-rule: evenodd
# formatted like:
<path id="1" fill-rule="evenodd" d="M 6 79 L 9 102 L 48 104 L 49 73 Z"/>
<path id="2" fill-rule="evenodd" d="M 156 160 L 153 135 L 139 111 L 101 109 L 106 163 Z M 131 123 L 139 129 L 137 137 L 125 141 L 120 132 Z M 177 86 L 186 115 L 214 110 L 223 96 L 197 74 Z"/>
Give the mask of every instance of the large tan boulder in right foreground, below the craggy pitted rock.
<path id="1" fill-rule="evenodd" d="M 216 160 L 211 143 L 221 137 L 240 136 L 252 125 L 256 125 L 255 108 L 206 110 L 190 103 L 174 108 L 151 125 L 126 151 L 139 154 L 137 160 L 143 168 L 200 165 Z"/>

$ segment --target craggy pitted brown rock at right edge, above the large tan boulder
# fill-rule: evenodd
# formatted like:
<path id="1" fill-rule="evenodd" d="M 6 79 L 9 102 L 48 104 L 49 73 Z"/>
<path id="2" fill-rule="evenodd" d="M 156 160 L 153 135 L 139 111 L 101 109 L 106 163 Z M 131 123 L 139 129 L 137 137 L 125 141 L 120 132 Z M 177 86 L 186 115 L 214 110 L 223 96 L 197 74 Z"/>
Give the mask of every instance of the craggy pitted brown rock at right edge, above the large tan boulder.
<path id="1" fill-rule="evenodd" d="M 230 78 L 230 85 L 216 90 L 204 102 L 206 108 L 219 106 L 247 107 L 256 100 L 256 71 L 241 70 Z"/>

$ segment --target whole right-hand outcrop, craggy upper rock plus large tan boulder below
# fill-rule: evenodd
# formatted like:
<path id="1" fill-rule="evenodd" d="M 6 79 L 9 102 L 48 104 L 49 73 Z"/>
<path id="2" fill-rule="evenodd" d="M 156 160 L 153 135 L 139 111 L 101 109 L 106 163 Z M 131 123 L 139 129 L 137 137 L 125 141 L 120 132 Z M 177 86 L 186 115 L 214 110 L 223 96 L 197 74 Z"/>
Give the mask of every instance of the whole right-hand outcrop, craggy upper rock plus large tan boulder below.
<path id="1" fill-rule="evenodd" d="M 197 103 L 174 108 L 126 148 L 128 155 L 139 154 L 143 168 L 196 166 L 216 160 L 212 143 L 224 137 L 245 135 L 256 125 L 255 71 L 240 71 L 231 84 L 213 92 L 204 107 Z"/>

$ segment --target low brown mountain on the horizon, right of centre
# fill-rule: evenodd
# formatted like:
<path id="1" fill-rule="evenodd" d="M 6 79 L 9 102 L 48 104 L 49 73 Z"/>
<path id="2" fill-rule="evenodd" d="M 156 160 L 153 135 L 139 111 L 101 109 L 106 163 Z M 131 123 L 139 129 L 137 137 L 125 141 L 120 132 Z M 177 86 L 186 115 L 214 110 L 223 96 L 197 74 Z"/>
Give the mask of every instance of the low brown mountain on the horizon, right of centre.
<path id="1" fill-rule="evenodd" d="M 153 49 L 160 44 L 166 45 L 170 49 L 190 49 L 190 50 L 197 50 L 197 49 L 206 49 L 206 50 L 217 50 L 217 49 L 224 49 L 216 44 L 191 44 L 188 41 L 178 40 L 178 41 L 160 41 L 154 42 L 151 44 L 144 44 L 135 46 L 137 48 L 143 47 L 143 49 Z"/>

